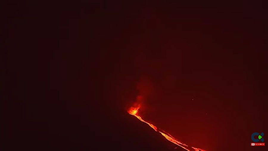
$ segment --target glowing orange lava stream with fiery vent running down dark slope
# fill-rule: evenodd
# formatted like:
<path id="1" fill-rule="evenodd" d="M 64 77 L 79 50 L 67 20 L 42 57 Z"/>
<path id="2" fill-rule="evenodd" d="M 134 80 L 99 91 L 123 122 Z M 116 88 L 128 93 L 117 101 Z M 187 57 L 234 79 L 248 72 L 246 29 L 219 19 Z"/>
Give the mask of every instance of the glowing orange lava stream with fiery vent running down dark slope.
<path id="1" fill-rule="evenodd" d="M 152 127 L 156 132 L 160 132 L 156 126 L 154 126 L 153 124 L 150 124 L 146 121 L 144 121 L 139 115 L 136 115 L 138 113 L 138 110 L 139 110 L 140 107 L 130 107 L 130 109 L 128 110 L 128 113 L 131 114 L 131 115 L 134 115 L 136 118 L 138 118 L 140 121 L 148 124 L 150 127 Z M 190 151 L 188 150 L 186 147 L 188 147 L 186 144 L 178 141 L 176 138 L 172 137 L 169 133 L 161 130 L 160 132 L 167 140 L 171 141 L 172 143 L 182 147 L 183 149 L 187 150 L 187 151 Z M 194 149 L 194 151 L 205 151 L 205 150 L 202 150 L 202 149 L 199 149 L 199 148 L 195 148 L 195 147 L 191 147 L 192 149 Z"/>

